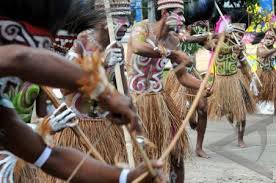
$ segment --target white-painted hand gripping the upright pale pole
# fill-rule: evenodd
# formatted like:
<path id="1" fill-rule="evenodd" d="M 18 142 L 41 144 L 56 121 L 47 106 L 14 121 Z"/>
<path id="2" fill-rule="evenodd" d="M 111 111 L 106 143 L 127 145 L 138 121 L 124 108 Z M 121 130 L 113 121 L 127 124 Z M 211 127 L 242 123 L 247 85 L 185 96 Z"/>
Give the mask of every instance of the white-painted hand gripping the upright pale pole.
<path id="1" fill-rule="evenodd" d="M 124 63 L 124 48 L 123 45 L 114 41 L 106 48 L 105 64 L 107 66 L 114 66 L 117 63 L 120 65 Z"/>

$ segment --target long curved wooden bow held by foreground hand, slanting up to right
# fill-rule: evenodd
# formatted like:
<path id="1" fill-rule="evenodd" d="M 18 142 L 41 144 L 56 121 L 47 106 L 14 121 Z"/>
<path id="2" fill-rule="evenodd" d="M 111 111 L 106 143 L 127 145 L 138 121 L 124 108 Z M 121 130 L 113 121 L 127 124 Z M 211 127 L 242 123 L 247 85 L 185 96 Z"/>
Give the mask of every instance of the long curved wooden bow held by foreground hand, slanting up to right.
<path id="1" fill-rule="evenodd" d="M 216 48 L 216 51 L 215 51 L 215 54 L 214 56 L 212 57 L 212 60 L 211 60 L 211 66 L 213 65 L 214 61 L 217 59 L 218 57 L 218 54 L 219 54 L 219 51 L 223 45 L 223 42 L 224 42 L 224 38 L 225 36 L 222 35 L 219 39 L 219 42 L 218 42 L 218 45 L 217 45 L 217 48 Z M 201 85 L 200 85 L 200 88 L 196 94 L 196 97 L 192 103 L 192 106 L 191 106 L 191 109 L 189 110 L 189 112 L 187 113 L 187 116 L 185 118 L 185 120 L 183 121 L 182 125 L 180 126 L 179 130 L 177 131 L 176 135 L 174 136 L 172 142 L 170 143 L 170 145 L 168 146 L 168 148 L 163 152 L 162 156 L 159 158 L 160 161 L 163 161 L 167 156 L 170 155 L 171 151 L 173 150 L 174 146 L 176 145 L 177 141 L 179 140 L 179 138 L 181 137 L 181 135 L 183 134 L 184 130 L 185 130 L 185 127 L 186 125 L 188 124 L 190 118 L 192 117 L 194 111 L 196 110 L 196 107 L 198 105 L 198 102 L 199 102 L 199 99 L 201 98 L 202 96 L 202 93 L 205 89 L 205 86 L 208 82 L 208 78 L 211 74 L 211 67 L 209 68 L 207 74 L 205 75 Z M 146 176 L 148 175 L 148 173 L 144 173 L 142 174 L 141 176 L 139 176 L 136 180 L 134 180 L 132 183 L 139 183 L 141 182 Z"/>

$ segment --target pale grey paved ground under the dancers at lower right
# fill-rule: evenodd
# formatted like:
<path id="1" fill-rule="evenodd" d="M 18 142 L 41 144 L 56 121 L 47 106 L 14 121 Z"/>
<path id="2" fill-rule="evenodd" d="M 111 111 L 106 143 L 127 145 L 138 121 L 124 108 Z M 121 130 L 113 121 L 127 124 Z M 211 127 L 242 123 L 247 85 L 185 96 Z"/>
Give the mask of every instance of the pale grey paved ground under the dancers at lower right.
<path id="1" fill-rule="evenodd" d="M 272 117 L 254 115 L 249 116 L 248 121 L 249 134 L 245 137 L 248 147 L 245 149 L 237 147 L 233 127 L 226 120 L 210 121 L 206 132 L 205 149 L 211 158 L 202 159 L 193 154 L 191 160 L 186 161 L 186 183 L 272 183 L 272 172 L 276 170 L 276 118 L 273 123 Z M 257 160 L 262 148 L 260 135 L 255 129 L 266 125 L 268 130 L 266 149 Z M 196 132 L 189 129 L 189 133 L 194 146 Z M 265 131 L 262 131 L 261 135 L 265 136 Z M 275 173 L 276 171 L 274 178 L 276 178 Z"/>

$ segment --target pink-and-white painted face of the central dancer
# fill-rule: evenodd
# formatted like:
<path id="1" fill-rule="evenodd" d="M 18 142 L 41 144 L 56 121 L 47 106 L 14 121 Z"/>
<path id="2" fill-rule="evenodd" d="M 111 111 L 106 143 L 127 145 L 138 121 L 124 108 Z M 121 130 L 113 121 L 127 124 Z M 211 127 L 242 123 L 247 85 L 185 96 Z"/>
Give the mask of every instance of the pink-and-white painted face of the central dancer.
<path id="1" fill-rule="evenodd" d="M 181 8 L 175 8 L 168 12 L 169 16 L 167 17 L 166 24 L 169 26 L 170 31 L 176 33 L 180 32 L 183 29 L 185 18 L 183 10 Z"/>

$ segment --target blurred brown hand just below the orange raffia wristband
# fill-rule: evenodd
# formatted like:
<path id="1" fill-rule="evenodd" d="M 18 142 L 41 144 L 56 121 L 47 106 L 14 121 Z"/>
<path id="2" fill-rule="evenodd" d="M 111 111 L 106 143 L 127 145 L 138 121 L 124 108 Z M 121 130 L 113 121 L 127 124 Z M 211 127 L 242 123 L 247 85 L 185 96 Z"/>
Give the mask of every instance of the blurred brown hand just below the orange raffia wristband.
<path id="1" fill-rule="evenodd" d="M 99 96 L 99 104 L 103 109 L 110 111 L 108 118 L 117 125 L 128 125 L 131 131 L 141 134 L 142 128 L 138 123 L 135 108 L 129 97 L 113 91 Z"/>

